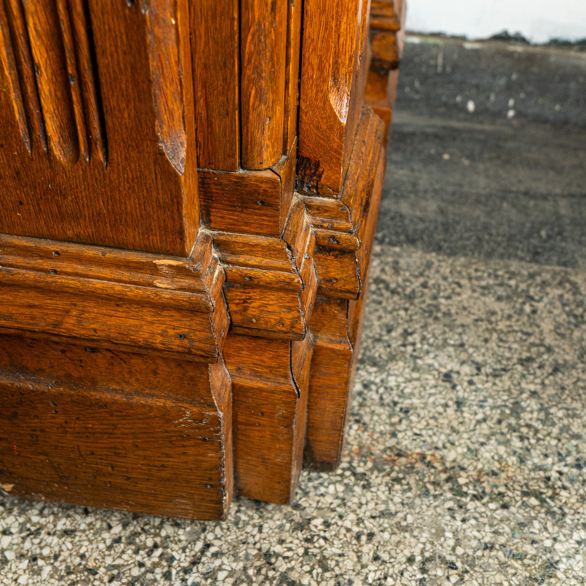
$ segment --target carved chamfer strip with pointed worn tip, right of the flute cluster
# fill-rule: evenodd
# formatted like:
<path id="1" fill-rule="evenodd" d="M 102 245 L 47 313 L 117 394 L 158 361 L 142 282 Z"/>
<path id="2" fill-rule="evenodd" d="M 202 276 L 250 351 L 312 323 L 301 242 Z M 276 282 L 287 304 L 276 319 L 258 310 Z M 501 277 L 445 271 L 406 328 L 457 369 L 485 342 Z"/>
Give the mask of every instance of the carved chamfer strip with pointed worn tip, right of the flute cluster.
<path id="1" fill-rule="evenodd" d="M 179 175 L 185 170 L 186 134 L 176 19 L 170 0 L 141 0 L 147 17 L 149 66 L 159 145 Z"/>

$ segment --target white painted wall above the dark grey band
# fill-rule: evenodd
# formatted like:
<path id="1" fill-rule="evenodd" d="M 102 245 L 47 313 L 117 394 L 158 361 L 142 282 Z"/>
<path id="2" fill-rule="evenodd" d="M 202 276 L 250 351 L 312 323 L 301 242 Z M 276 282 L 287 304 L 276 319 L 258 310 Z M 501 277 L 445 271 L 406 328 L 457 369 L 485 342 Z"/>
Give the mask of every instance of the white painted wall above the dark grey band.
<path id="1" fill-rule="evenodd" d="M 534 43 L 586 38 L 586 0 L 407 0 L 407 30 L 485 39 L 503 29 Z"/>

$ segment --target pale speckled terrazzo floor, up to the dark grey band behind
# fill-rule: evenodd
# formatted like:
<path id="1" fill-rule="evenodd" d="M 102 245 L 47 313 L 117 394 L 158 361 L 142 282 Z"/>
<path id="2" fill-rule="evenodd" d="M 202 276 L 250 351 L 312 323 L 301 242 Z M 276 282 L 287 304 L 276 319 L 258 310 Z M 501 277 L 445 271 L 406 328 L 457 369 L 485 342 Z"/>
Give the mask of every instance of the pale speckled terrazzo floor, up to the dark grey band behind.
<path id="1" fill-rule="evenodd" d="M 0 496 L 0 584 L 584 584 L 580 250 L 560 236 L 561 268 L 378 241 L 336 473 L 304 473 L 292 506 L 237 499 L 225 523 Z"/>

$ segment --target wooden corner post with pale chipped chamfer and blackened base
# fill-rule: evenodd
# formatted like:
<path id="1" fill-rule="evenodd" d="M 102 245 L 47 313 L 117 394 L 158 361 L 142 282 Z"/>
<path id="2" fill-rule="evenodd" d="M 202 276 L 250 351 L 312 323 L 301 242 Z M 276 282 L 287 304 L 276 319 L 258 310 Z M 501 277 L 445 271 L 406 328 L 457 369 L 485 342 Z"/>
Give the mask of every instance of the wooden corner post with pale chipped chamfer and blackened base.
<path id="1" fill-rule="evenodd" d="M 306 0 L 304 4 L 297 166 L 300 193 L 336 197 L 342 189 L 362 107 L 357 79 L 367 46 L 367 5 L 367 0 L 346 4 Z M 315 59 L 316 54 L 320 59 Z"/>

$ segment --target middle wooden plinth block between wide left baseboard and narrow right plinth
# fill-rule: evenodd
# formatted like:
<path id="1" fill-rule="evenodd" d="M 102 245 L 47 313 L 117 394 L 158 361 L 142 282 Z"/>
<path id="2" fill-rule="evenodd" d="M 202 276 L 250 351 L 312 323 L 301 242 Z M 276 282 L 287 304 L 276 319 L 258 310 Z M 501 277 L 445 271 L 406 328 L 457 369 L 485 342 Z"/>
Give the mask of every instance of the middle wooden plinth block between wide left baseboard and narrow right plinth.
<path id="1" fill-rule="evenodd" d="M 229 335 L 237 494 L 289 503 L 302 464 L 312 345 Z M 241 356 L 247 356 L 246 362 Z"/>

